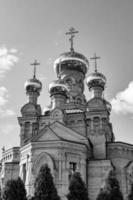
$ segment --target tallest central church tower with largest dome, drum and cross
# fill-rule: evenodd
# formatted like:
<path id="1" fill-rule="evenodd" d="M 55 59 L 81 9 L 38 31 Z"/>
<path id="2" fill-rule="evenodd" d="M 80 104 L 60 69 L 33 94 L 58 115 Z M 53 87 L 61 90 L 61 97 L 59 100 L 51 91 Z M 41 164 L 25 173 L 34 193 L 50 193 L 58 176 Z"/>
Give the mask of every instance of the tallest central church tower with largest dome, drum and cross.
<path id="1" fill-rule="evenodd" d="M 85 104 L 84 78 L 88 69 L 89 62 L 81 53 L 77 53 L 73 47 L 75 34 L 74 28 L 70 28 L 67 35 L 70 35 L 70 51 L 61 54 L 54 63 L 54 70 L 57 77 L 68 87 L 69 101 Z"/>

